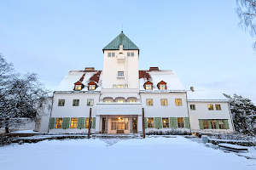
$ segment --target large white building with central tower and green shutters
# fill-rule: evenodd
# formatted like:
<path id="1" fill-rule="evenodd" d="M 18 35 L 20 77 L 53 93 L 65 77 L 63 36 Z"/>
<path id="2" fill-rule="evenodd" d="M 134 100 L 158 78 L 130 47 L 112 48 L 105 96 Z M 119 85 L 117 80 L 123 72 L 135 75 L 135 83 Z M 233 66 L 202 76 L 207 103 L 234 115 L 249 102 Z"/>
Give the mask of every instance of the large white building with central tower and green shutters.
<path id="1" fill-rule="evenodd" d="M 62 80 L 48 133 L 87 133 L 90 112 L 91 133 L 143 133 L 143 111 L 146 133 L 171 128 L 233 132 L 223 94 L 187 91 L 172 70 L 138 71 L 139 48 L 123 32 L 103 54 L 103 71 L 69 71 Z"/>

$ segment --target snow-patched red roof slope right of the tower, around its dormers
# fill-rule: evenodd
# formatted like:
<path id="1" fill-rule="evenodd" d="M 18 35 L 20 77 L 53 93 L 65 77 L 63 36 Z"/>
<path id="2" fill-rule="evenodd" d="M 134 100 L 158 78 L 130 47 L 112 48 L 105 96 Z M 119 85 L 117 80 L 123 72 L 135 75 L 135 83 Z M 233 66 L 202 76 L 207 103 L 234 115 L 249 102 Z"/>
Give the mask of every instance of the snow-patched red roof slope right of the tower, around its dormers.
<path id="1" fill-rule="evenodd" d="M 145 82 L 153 83 L 153 91 L 159 90 L 157 84 L 161 81 L 166 82 L 167 91 L 184 91 L 182 82 L 178 79 L 177 75 L 172 70 L 162 71 L 139 71 L 139 86 L 140 90 L 145 90 L 143 87 Z"/>

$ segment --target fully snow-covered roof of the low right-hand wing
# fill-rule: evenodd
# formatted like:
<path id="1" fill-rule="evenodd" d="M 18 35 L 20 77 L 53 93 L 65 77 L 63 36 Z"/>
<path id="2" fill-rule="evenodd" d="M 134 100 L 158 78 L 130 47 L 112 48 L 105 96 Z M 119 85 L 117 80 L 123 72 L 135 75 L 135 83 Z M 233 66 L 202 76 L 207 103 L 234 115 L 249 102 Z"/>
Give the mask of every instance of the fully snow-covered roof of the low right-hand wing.
<path id="1" fill-rule="evenodd" d="M 201 101 L 201 100 L 222 100 L 228 101 L 228 99 L 218 90 L 195 90 L 187 91 L 188 101 Z"/>

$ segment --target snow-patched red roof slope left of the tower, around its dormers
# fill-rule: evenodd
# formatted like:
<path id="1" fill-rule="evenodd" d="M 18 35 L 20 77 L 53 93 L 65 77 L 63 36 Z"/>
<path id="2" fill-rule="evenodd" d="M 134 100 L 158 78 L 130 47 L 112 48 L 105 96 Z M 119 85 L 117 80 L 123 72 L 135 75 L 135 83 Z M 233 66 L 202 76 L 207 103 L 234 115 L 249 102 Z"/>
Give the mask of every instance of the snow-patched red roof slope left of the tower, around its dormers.
<path id="1" fill-rule="evenodd" d="M 84 84 L 81 91 L 88 91 L 89 82 L 96 82 L 97 88 L 94 91 L 101 91 L 102 71 L 69 71 L 55 91 L 73 91 L 74 83 L 78 81 Z"/>

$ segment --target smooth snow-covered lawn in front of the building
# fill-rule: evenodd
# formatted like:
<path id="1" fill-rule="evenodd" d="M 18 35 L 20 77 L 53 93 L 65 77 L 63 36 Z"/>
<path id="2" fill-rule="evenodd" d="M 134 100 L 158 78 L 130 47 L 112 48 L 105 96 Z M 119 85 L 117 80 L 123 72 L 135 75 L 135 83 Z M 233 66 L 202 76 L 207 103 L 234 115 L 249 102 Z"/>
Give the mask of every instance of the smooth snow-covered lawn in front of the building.
<path id="1" fill-rule="evenodd" d="M 0 147 L 0 169 L 256 169 L 256 160 L 181 136 L 65 139 Z"/>

